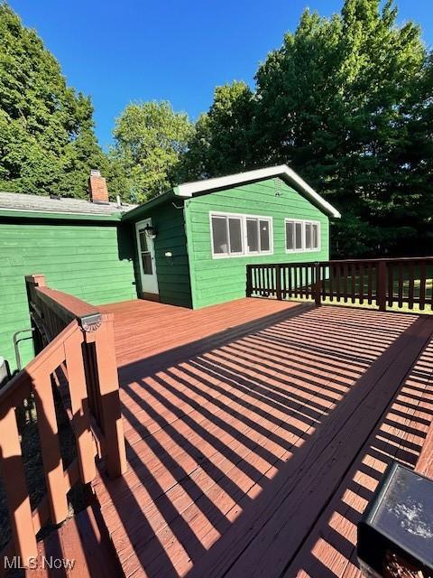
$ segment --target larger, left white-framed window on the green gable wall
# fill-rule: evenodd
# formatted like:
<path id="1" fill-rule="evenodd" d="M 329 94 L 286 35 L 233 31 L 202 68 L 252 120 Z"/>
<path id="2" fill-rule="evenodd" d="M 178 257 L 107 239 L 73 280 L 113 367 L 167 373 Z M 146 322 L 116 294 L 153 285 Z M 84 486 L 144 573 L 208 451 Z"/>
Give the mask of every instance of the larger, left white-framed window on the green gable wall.
<path id="1" fill-rule="evenodd" d="M 272 253 L 272 219 L 230 213 L 210 214 L 214 258 Z"/>

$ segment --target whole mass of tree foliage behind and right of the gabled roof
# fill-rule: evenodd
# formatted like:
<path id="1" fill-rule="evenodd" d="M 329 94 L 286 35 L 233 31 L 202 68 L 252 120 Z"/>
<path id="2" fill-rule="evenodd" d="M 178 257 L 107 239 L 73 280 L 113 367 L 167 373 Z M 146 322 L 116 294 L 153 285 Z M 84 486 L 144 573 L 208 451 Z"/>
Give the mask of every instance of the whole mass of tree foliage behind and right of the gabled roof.
<path id="1" fill-rule="evenodd" d="M 345 0 L 330 19 L 305 11 L 254 92 L 216 90 L 189 173 L 289 163 L 343 214 L 334 255 L 419 252 L 432 208 L 432 60 L 419 27 L 380 5 Z"/>

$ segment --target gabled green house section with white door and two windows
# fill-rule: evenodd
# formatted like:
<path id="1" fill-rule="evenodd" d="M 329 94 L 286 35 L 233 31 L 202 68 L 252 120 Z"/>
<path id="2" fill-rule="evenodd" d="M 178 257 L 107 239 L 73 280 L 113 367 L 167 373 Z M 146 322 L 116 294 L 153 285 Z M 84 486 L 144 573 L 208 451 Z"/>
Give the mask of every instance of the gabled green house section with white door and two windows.
<path id="1" fill-rule="evenodd" d="M 134 228 L 139 295 L 198 309 L 244 297 L 248 263 L 327 260 L 339 216 L 281 165 L 181 184 L 122 220 Z"/>

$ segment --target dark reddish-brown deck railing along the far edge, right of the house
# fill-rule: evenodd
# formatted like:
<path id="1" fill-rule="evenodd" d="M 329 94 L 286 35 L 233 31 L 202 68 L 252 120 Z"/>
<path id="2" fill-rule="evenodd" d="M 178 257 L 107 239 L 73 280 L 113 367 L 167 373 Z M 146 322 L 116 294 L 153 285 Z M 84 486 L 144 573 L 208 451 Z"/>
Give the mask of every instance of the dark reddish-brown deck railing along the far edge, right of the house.
<path id="1" fill-rule="evenodd" d="M 246 274 L 250 297 L 367 303 L 381 311 L 433 306 L 433 257 L 247 265 Z"/>

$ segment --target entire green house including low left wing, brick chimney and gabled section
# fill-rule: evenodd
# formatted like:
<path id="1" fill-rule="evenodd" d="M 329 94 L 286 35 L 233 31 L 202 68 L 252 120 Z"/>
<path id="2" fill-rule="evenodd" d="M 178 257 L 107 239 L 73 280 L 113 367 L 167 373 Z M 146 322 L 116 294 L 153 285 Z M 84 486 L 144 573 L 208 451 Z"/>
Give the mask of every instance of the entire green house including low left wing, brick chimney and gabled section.
<path id="1" fill-rule="evenodd" d="M 13 367 L 14 333 L 30 326 L 24 275 L 89 303 L 196 309 L 244 297 L 249 263 L 327 260 L 329 218 L 340 216 L 286 165 L 181 184 L 136 207 L 109 202 L 98 172 L 89 192 L 0 193 L 0 356 Z"/>

